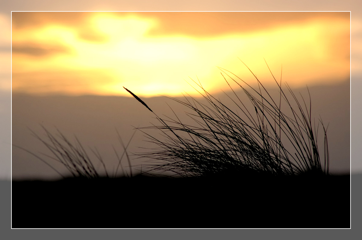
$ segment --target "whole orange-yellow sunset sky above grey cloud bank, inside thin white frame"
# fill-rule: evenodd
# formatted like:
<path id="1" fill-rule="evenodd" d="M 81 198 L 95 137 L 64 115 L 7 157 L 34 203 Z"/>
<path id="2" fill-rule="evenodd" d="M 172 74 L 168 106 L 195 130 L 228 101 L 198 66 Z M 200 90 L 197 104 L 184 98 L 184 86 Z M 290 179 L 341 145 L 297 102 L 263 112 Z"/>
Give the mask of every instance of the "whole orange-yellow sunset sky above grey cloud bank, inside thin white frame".
<path id="1" fill-rule="evenodd" d="M 264 83 L 264 58 L 291 86 L 349 79 L 350 13 L 12 13 L 13 93 L 179 96 L 191 79 L 216 92 L 216 66 L 255 81 L 238 58 Z"/>

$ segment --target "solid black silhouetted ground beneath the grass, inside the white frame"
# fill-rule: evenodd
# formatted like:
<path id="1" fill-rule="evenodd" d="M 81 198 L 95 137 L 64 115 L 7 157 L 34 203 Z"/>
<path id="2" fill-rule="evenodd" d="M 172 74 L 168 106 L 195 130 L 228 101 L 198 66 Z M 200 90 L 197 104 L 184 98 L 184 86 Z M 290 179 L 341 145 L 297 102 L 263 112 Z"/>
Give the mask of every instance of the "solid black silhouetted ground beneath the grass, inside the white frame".
<path id="1" fill-rule="evenodd" d="M 13 181 L 12 228 L 350 228 L 350 175 Z"/>

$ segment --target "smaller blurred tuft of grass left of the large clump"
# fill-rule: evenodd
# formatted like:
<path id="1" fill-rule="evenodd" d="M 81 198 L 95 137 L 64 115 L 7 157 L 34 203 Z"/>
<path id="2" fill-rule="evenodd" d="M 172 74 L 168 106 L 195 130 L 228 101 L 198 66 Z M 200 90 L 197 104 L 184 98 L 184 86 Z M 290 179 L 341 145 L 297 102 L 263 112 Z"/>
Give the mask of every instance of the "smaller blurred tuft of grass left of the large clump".
<path id="1" fill-rule="evenodd" d="M 124 155 L 126 155 L 126 158 L 128 160 L 129 166 L 130 166 L 130 176 L 132 176 L 132 168 L 130 163 L 129 154 L 127 153 L 127 147 L 130 144 L 130 141 L 132 140 L 134 134 L 132 135 L 131 139 L 127 143 L 127 145 L 123 144 L 123 141 L 121 139 L 121 136 L 119 135 L 117 129 L 116 132 L 118 134 L 118 139 L 123 147 L 123 153 L 121 156 L 117 153 L 115 148 L 113 147 L 113 150 L 115 152 L 115 155 L 117 156 L 118 165 L 115 169 L 115 171 L 110 174 L 108 173 L 105 163 L 101 157 L 101 154 L 98 152 L 97 148 L 90 148 L 91 152 L 94 154 L 94 156 L 98 159 L 98 161 L 101 163 L 101 165 L 104 168 L 104 174 L 100 173 L 99 170 L 97 170 L 94 165 L 93 161 L 89 157 L 87 151 L 84 149 L 78 138 L 75 136 L 75 143 L 71 143 L 66 136 L 62 134 L 58 129 L 58 135 L 53 135 L 49 130 L 47 130 L 44 126 L 41 126 L 43 130 L 46 133 L 46 139 L 44 140 L 41 136 L 35 134 L 34 131 L 30 130 L 35 138 L 40 140 L 52 153 L 51 155 L 48 154 L 42 154 L 51 160 L 54 160 L 56 162 L 62 163 L 63 166 L 66 167 L 66 169 L 69 171 L 69 173 L 76 178 L 84 178 L 84 179 L 94 179 L 94 178 L 100 178 L 100 177 L 107 177 L 107 178 L 115 178 L 118 175 L 119 167 L 121 167 L 122 173 L 124 176 L 128 175 L 128 173 L 125 173 L 125 170 L 123 169 L 121 160 L 123 159 Z M 61 174 L 58 170 L 55 169 L 48 161 L 46 161 L 43 157 L 40 157 L 39 155 L 22 148 L 20 146 L 16 146 L 20 149 L 25 150 L 26 152 L 32 154 L 33 156 L 37 157 L 42 162 L 46 163 L 48 166 L 50 166 L 54 171 L 56 171 L 60 176 L 63 178 L 66 178 L 63 174 Z"/>

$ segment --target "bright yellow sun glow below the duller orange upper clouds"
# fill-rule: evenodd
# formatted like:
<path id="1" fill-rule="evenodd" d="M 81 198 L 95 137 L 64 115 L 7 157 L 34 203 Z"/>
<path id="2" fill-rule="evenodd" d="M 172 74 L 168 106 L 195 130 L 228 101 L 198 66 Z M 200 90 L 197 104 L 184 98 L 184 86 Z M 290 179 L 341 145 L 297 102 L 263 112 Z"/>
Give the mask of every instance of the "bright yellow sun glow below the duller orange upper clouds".
<path id="1" fill-rule="evenodd" d="M 192 82 L 190 78 L 198 78 L 211 92 L 219 91 L 224 82 L 216 66 L 254 81 L 238 57 L 260 80 L 271 80 L 263 58 L 278 78 L 283 66 L 282 78 L 293 86 L 349 76 L 349 56 L 341 57 L 336 49 L 340 43 L 334 42 L 349 35 L 349 22 L 341 20 L 315 19 L 208 38 L 152 36 L 150 30 L 161 23 L 136 15 L 121 18 L 94 13 L 89 24 L 107 40 L 87 41 L 75 29 L 54 24 L 13 30 L 13 45 L 26 43 L 53 51 L 42 57 L 13 53 L 13 91 L 127 95 L 122 87 L 126 86 L 139 96 L 176 96 L 195 93 L 186 82 Z M 342 48 L 349 54 L 349 46 Z M 26 88 L 31 76 L 33 87 Z"/>

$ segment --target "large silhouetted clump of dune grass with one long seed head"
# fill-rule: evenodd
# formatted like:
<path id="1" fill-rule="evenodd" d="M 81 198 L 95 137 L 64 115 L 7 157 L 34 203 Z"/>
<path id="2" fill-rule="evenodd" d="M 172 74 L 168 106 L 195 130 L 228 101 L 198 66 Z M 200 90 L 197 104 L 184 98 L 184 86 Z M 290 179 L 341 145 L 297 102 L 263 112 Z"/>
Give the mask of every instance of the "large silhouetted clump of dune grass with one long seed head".
<path id="1" fill-rule="evenodd" d="M 191 96 L 185 96 L 184 101 L 169 97 L 192 111 L 188 115 L 195 125 L 182 123 L 176 114 L 176 119 L 163 119 L 155 114 L 161 125 L 143 129 L 161 130 L 166 139 L 159 140 L 144 132 L 159 147 L 141 154 L 151 158 L 151 164 L 143 165 L 148 169 L 146 172 L 172 172 L 179 176 L 329 174 L 327 128 L 320 119 L 324 134 L 324 156 L 321 157 L 317 145 L 319 123 L 316 126 L 312 122 L 309 90 L 309 103 L 303 96 L 299 100 L 288 84 L 287 92 L 282 89 L 281 81 L 278 83 L 269 69 L 279 89 L 278 99 L 273 99 L 254 74 L 258 88 L 251 87 L 230 71 L 219 69 L 232 92 L 231 95 L 224 93 L 235 105 L 224 104 L 195 81 L 198 88 L 195 90 L 206 102 Z M 241 101 L 229 81 L 243 90 L 252 108 Z M 282 109 L 282 104 L 286 104 L 286 109 Z M 288 144 L 292 147 L 288 148 Z"/>

